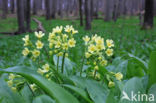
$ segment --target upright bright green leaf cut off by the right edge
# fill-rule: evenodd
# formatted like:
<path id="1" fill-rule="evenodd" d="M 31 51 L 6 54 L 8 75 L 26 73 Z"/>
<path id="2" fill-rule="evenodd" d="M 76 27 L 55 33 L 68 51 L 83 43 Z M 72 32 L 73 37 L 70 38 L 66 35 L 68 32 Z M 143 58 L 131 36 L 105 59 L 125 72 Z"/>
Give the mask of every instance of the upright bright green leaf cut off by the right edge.
<path id="1" fill-rule="evenodd" d="M 149 62 L 149 85 L 156 83 L 156 51 L 151 53 L 150 62 Z"/>

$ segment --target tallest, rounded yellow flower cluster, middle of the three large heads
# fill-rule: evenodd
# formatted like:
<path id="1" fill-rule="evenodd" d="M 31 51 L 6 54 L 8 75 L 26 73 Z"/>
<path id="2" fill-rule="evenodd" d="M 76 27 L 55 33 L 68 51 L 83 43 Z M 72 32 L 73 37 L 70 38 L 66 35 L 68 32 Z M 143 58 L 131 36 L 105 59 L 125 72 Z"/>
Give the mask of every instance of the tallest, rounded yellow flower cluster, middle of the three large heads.
<path id="1" fill-rule="evenodd" d="M 74 39 L 74 34 L 78 33 L 73 26 L 57 26 L 53 28 L 52 32 L 49 33 L 49 48 L 58 56 L 62 56 L 64 52 L 67 52 L 69 48 L 75 47 L 76 40 Z M 68 54 L 66 53 L 66 56 Z"/>

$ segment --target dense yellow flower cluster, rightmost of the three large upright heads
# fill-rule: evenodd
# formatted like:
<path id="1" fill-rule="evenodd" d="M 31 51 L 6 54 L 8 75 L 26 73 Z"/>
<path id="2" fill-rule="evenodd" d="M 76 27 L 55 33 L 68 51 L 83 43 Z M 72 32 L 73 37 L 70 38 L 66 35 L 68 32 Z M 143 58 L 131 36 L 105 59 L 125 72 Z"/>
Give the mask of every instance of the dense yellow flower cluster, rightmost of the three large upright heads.
<path id="1" fill-rule="evenodd" d="M 91 38 L 88 36 L 83 37 L 85 41 L 85 57 L 89 63 L 93 62 L 94 69 L 98 70 L 98 65 L 105 66 L 107 65 L 106 56 L 113 55 L 114 43 L 113 40 L 106 40 L 106 45 L 104 38 L 94 35 Z"/>

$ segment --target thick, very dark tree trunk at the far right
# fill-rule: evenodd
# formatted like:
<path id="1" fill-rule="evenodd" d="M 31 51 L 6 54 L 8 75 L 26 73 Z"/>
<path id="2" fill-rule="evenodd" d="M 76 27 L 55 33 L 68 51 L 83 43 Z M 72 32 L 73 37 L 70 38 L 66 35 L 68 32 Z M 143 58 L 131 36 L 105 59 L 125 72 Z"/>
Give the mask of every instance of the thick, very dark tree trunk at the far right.
<path id="1" fill-rule="evenodd" d="M 153 27 L 153 19 L 154 19 L 154 2 L 153 0 L 145 1 L 145 15 L 144 15 L 144 29 L 149 29 Z"/>

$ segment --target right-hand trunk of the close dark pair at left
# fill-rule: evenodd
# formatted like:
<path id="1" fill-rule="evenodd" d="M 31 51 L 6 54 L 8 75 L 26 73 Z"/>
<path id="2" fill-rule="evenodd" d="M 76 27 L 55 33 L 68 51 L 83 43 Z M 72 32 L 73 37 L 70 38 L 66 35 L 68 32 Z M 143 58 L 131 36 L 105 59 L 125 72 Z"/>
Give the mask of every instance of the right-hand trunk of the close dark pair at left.
<path id="1" fill-rule="evenodd" d="M 30 0 L 26 0 L 26 30 L 31 31 L 30 22 L 31 22 L 31 14 L 30 14 Z"/>

